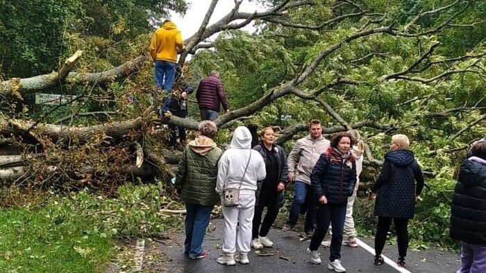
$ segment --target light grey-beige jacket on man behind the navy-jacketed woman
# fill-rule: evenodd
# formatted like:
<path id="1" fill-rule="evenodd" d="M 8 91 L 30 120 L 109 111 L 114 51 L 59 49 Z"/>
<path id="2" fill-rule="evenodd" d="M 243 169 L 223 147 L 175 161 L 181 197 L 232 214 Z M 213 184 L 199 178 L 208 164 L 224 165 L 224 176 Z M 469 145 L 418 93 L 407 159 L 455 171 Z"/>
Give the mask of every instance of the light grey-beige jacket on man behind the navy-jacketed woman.
<path id="1" fill-rule="evenodd" d="M 310 135 L 299 139 L 296 143 L 289 157 L 287 157 L 287 165 L 289 167 L 289 174 L 295 175 L 295 180 L 304 182 L 310 185 L 310 175 L 317 160 L 323 152 L 326 152 L 330 142 L 321 136 L 319 139 L 312 139 Z"/>

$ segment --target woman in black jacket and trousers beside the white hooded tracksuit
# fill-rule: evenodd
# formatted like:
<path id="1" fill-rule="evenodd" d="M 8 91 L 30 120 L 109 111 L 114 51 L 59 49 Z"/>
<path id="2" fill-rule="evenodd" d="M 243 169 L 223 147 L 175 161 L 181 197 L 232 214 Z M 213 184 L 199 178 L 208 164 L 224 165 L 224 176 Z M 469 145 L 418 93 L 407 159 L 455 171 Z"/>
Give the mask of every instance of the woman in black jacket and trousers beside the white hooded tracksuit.
<path id="1" fill-rule="evenodd" d="M 253 216 L 253 228 L 251 247 L 261 249 L 274 245 L 267 235 L 270 227 L 274 224 L 280 202 L 284 199 L 284 189 L 287 183 L 288 167 L 287 155 L 282 147 L 276 145 L 274 130 L 271 127 L 263 128 L 260 132 L 261 143 L 253 147 L 253 150 L 260 152 L 265 161 L 267 177 L 258 182 L 256 194 L 255 215 Z M 267 214 L 262 222 L 263 209 L 267 207 Z M 261 224 L 261 226 L 260 226 Z"/>

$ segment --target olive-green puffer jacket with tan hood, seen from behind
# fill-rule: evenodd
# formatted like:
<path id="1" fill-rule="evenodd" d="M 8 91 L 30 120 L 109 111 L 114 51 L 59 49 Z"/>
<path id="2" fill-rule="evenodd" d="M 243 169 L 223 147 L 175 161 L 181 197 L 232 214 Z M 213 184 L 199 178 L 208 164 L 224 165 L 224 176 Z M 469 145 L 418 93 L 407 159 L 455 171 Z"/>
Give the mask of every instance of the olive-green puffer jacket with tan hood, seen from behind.
<path id="1" fill-rule="evenodd" d="M 176 175 L 176 188 L 181 189 L 184 202 L 202 206 L 219 202 L 215 188 L 218 161 L 222 154 L 216 143 L 206 136 L 199 136 L 185 148 Z"/>

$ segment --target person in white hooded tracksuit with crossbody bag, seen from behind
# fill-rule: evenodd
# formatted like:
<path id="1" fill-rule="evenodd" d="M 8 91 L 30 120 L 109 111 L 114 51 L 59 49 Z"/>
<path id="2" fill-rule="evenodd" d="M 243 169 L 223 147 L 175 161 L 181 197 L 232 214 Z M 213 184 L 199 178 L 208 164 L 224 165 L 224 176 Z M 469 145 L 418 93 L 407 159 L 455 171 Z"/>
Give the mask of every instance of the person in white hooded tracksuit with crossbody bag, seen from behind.
<path id="1" fill-rule="evenodd" d="M 245 173 L 247 164 L 248 168 Z M 230 147 L 219 159 L 216 192 L 222 195 L 225 188 L 240 188 L 241 183 L 240 204 L 233 207 L 222 206 L 224 215 L 223 255 L 217 258 L 217 263 L 223 265 L 235 265 L 237 261 L 242 264 L 249 263 L 248 252 L 250 252 L 251 223 L 255 211 L 257 180 L 265 179 L 266 175 L 262 156 L 251 149 L 250 131 L 244 126 L 237 127 Z M 236 236 L 238 222 L 240 222 L 240 227 Z M 235 256 L 236 249 L 240 253 Z"/>

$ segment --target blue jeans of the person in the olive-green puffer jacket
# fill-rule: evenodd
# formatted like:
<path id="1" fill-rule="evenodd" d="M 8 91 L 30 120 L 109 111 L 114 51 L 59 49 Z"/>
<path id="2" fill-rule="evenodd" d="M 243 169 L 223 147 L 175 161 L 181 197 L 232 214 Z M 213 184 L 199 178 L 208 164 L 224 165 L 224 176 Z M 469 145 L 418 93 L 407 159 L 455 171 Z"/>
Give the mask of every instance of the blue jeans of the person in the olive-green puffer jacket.
<path id="1" fill-rule="evenodd" d="M 185 241 L 184 253 L 196 258 L 203 252 L 203 239 L 214 206 L 185 204 Z"/>

